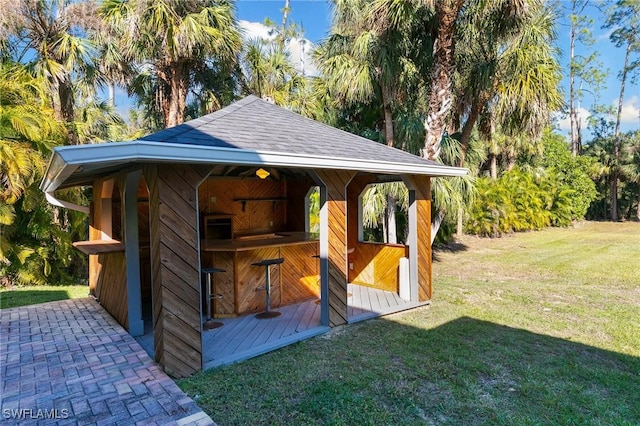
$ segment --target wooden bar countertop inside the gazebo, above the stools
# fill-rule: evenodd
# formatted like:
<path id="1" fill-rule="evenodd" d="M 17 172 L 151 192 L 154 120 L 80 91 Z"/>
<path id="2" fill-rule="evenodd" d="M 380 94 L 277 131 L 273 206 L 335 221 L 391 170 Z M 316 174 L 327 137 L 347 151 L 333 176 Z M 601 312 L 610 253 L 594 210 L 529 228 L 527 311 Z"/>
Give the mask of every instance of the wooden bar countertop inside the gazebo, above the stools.
<path id="1" fill-rule="evenodd" d="M 262 247 L 282 247 L 318 242 L 318 234 L 306 232 L 278 232 L 276 234 L 251 235 L 234 240 L 201 241 L 202 251 L 246 251 Z"/>

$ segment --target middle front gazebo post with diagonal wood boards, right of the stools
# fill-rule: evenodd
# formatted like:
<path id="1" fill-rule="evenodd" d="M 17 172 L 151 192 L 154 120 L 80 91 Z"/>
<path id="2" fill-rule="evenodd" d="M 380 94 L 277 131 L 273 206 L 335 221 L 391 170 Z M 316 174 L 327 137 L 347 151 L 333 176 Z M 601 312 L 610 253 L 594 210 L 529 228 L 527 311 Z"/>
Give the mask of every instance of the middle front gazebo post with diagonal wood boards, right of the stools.
<path id="1" fill-rule="evenodd" d="M 320 185 L 320 293 L 323 325 L 347 323 L 346 188 L 355 172 L 316 170 Z"/>

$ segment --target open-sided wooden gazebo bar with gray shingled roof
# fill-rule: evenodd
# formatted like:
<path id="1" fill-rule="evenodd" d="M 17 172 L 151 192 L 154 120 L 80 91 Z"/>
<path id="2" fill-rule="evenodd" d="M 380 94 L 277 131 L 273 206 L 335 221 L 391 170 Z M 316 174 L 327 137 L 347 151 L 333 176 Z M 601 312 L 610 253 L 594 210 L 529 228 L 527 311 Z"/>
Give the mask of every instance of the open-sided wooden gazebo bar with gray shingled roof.
<path id="1" fill-rule="evenodd" d="M 428 303 L 431 178 L 466 172 L 248 96 L 136 141 L 58 147 L 41 189 L 90 215 L 74 244 L 90 293 L 184 377 Z M 407 243 L 364 241 L 361 196 L 391 181 L 409 191 Z M 56 197 L 73 186 L 93 188 L 90 206 Z M 267 285 L 254 264 L 274 259 Z M 280 315 L 256 318 L 267 300 Z"/>

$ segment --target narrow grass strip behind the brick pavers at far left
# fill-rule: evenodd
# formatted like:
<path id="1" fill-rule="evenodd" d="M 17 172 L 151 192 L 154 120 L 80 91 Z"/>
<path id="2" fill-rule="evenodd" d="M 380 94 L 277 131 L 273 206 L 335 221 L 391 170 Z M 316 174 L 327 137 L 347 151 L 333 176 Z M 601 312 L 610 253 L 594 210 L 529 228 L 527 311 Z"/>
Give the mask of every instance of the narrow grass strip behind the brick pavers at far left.
<path id="1" fill-rule="evenodd" d="M 24 286 L 0 289 L 0 309 L 87 297 L 86 285 Z"/>

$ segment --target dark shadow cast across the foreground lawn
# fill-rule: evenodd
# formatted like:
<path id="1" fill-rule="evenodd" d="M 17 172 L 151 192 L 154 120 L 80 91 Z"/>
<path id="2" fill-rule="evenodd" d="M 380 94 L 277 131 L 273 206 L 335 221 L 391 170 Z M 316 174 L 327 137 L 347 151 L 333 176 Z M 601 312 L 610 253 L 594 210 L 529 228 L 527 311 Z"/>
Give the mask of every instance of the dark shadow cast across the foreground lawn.
<path id="1" fill-rule="evenodd" d="M 640 424 L 640 358 L 468 317 L 363 322 L 180 385 L 220 424 Z"/>

